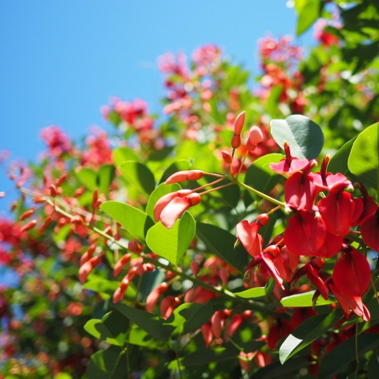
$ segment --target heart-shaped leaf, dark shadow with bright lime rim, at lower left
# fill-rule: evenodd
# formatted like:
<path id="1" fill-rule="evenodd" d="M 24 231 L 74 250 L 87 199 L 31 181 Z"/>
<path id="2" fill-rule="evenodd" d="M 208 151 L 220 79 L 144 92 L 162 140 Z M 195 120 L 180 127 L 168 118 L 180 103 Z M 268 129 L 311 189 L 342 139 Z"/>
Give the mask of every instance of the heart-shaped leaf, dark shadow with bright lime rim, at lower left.
<path id="1" fill-rule="evenodd" d="M 119 312 L 109 312 L 101 320 L 92 318 L 84 325 L 84 330 L 94 338 L 108 344 L 123 346 L 125 344 L 129 321 Z"/>

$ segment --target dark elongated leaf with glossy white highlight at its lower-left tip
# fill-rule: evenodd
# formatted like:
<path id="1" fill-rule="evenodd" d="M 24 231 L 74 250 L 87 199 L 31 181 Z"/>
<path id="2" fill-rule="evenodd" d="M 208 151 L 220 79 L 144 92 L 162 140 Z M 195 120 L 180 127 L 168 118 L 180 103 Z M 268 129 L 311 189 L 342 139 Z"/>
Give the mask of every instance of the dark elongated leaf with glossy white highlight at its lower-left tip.
<path id="1" fill-rule="evenodd" d="M 281 344 L 279 349 L 280 363 L 283 364 L 326 333 L 341 317 L 341 310 L 336 309 L 331 313 L 321 313 L 307 318 Z"/>

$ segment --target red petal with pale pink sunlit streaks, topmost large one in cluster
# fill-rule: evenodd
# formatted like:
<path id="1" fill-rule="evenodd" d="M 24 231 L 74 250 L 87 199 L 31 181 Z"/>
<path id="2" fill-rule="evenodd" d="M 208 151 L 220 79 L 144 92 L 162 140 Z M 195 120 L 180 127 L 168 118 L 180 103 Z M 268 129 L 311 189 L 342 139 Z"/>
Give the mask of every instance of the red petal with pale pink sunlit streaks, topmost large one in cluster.
<path id="1" fill-rule="evenodd" d="M 317 188 L 312 178 L 296 172 L 287 179 L 285 184 L 286 203 L 302 211 L 309 211 L 317 196 Z"/>

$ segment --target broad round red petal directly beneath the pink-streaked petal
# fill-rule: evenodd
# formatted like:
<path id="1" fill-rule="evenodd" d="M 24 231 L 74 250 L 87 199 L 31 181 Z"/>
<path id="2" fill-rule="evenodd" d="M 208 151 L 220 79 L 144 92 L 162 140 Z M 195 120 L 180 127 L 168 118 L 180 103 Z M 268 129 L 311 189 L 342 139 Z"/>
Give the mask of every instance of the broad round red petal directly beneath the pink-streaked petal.
<path id="1" fill-rule="evenodd" d="M 315 255 L 323 245 L 325 235 L 325 224 L 320 217 L 300 211 L 289 219 L 284 239 L 291 254 Z"/>

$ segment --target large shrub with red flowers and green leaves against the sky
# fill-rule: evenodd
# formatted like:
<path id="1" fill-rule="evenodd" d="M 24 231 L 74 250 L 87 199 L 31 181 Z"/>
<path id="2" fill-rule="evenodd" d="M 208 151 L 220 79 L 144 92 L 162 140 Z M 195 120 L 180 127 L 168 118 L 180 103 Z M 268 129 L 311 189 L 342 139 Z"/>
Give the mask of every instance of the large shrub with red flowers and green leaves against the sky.
<path id="1" fill-rule="evenodd" d="M 322 12 L 307 58 L 259 42 L 254 90 L 217 46 L 168 55 L 163 121 L 112 99 L 112 135 L 10 165 L 0 377 L 375 377 L 379 74 Z"/>

